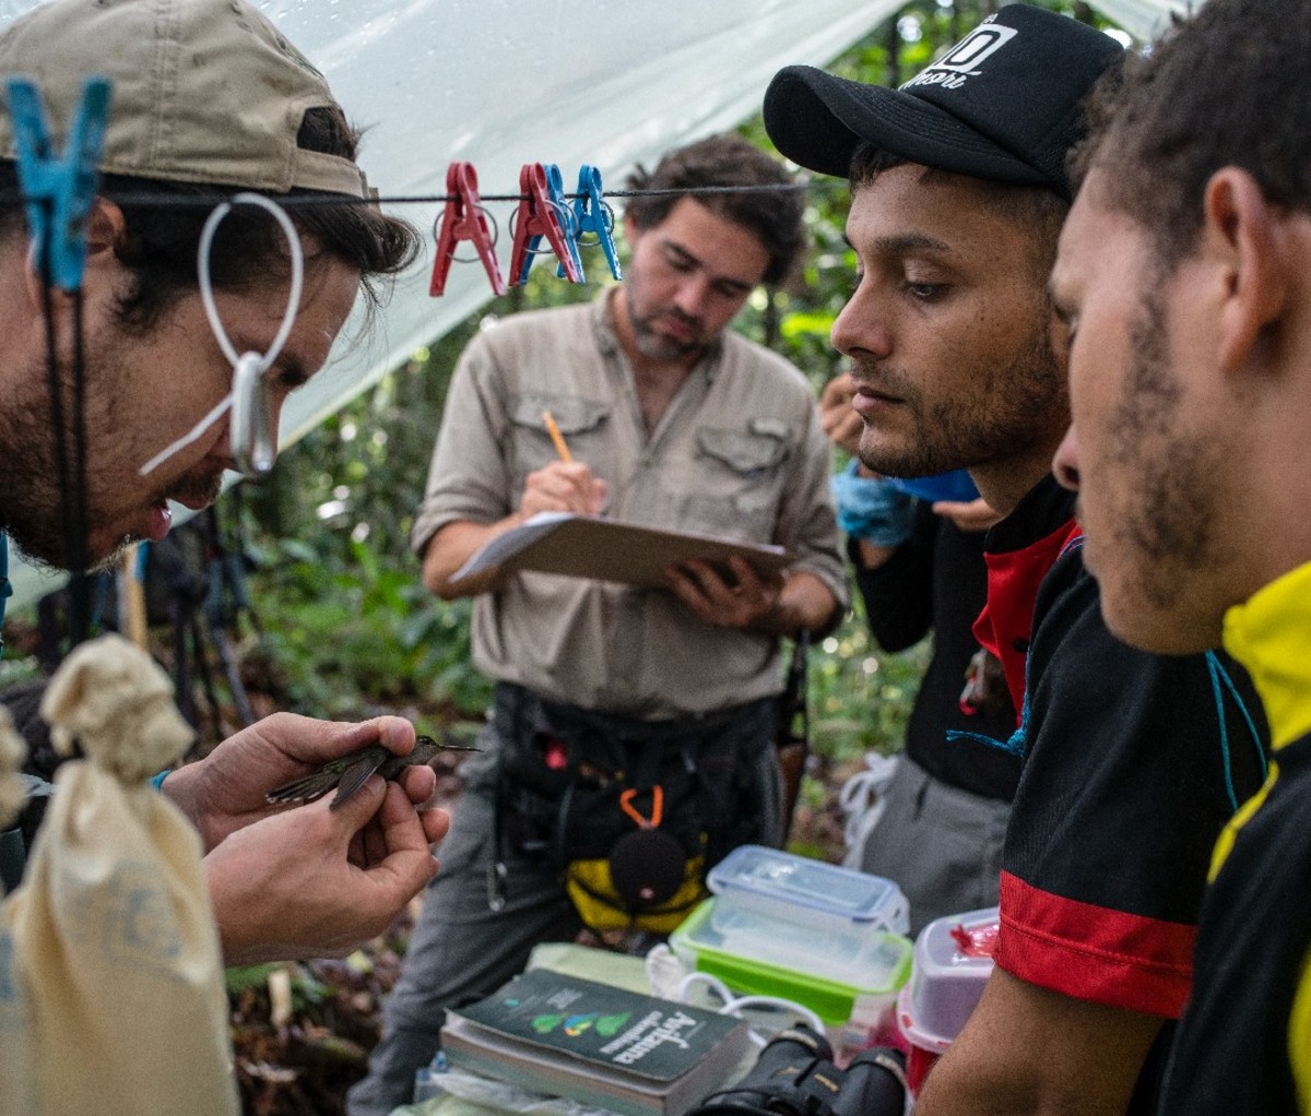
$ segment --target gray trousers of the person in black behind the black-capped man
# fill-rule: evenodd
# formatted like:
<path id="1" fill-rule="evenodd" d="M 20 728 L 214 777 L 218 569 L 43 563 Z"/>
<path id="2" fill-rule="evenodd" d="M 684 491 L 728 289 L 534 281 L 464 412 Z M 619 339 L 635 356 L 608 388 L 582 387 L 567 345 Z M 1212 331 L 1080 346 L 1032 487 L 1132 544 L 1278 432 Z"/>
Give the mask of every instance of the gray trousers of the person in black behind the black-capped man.
<path id="1" fill-rule="evenodd" d="M 901 887 L 912 937 L 935 918 L 996 905 L 1011 803 L 935 779 L 907 756 L 885 798 L 860 870 Z"/>

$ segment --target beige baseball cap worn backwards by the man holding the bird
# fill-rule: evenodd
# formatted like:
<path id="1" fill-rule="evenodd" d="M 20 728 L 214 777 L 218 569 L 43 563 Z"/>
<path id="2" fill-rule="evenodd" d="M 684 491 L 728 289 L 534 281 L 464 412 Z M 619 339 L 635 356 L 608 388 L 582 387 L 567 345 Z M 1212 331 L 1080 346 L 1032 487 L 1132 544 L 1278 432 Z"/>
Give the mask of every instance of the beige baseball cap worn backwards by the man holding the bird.
<path id="1" fill-rule="evenodd" d="M 110 79 L 100 164 L 109 174 L 370 193 L 349 158 L 296 145 L 305 111 L 337 102 L 324 76 L 243 0 L 42 0 L 0 31 L 0 75 L 37 83 L 59 149 L 83 79 Z M 0 157 L 14 157 L 7 110 Z"/>

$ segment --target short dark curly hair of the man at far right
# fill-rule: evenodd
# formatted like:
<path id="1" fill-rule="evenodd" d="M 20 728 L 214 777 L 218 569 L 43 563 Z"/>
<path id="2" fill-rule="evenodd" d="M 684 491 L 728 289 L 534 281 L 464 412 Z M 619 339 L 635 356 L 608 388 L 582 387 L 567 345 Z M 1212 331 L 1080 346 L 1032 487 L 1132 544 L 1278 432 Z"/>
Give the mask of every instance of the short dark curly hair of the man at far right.
<path id="1" fill-rule="evenodd" d="M 1150 231 L 1164 270 L 1197 244 L 1206 183 L 1240 166 L 1278 206 L 1311 210 L 1311 4 L 1209 0 L 1099 83 L 1080 185 Z"/>

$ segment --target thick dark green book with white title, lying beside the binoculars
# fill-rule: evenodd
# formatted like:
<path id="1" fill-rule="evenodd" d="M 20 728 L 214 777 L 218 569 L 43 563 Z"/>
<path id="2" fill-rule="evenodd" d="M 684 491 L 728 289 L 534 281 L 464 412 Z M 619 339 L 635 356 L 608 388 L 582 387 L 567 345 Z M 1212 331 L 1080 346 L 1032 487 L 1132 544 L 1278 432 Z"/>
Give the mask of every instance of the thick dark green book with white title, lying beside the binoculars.
<path id="1" fill-rule="evenodd" d="M 456 1068 L 624 1116 L 679 1116 L 733 1079 L 747 1026 L 729 1015 L 552 969 L 447 1011 Z"/>

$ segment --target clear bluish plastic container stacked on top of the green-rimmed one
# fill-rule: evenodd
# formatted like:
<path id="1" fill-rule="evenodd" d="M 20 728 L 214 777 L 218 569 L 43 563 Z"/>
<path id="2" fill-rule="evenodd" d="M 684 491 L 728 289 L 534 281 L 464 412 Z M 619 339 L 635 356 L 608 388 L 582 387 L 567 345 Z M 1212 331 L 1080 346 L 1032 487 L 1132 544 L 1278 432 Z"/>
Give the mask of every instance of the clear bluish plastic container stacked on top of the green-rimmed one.
<path id="1" fill-rule="evenodd" d="M 800 927 L 810 948 L 819 934 L 842 935 L 826 942 L 826 952 L 847 951 L 872 931 L 906 934 L 910 905 L 901 888 L 882 876 L 840 868 L 809 857 L 797 857 L 763 845 L 742 845 L 711 868 L 707 883 L 720 897 L 716 929 L 722 934 L 759 926 L 760 916 Z"/>

